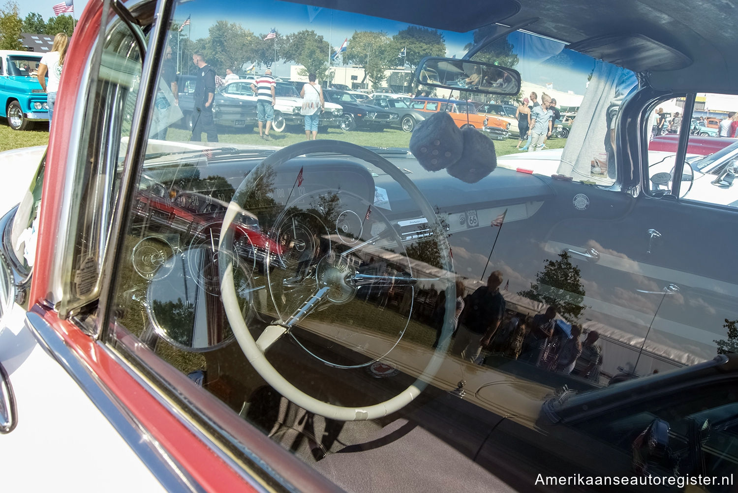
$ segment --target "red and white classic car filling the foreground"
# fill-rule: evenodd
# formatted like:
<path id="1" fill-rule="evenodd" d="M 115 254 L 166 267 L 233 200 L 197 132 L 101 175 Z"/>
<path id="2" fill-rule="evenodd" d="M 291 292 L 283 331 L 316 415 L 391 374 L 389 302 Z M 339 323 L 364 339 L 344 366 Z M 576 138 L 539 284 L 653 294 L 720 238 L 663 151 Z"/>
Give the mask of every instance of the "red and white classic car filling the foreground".
<path id="1" fill-rule="evenodd" d="M 4 491 L 734 489 L 734 149 L 701 161 L 689 121 L 697 91 L 734 91 L 735 15 L 392 7 L 86 5 L 46 154 L 0 155 L 37 170 L 2 194 L 18 203 L 0 220 Z M 550 83 L 582 104 L 553 176 L 500 165 L 507 146 L 444 112 L 409 135 L 162 139 L 163 54 L 193 46 L 177 34 L 190 18 L 214 59 L 233 52 L 219 27 L 279 26 L 279 63 L 328 71 L 339 37 L 371 29 L 393 65 L 407 43 L 457 56 L 432 57 L 439 76 L 506 74 L 464 88 L 485 99 Z M 649 152 L 673 99 L 677 144 Z M 715 192 L 693 198 L 703 180 Z M 245 239 L 263 240 L 255 262 Z M 608 385 L 621 368 L 639 377 Z"/>

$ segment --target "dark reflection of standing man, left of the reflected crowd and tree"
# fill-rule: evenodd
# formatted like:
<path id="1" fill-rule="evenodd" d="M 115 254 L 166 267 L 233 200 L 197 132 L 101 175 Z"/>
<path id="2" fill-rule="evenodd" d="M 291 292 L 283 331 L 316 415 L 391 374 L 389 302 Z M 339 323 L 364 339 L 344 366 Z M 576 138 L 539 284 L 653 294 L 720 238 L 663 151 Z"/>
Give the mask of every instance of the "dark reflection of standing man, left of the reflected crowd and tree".
<path id="1" fill-rule="evenodd" d="M 500 293 L 503 274 L 495 270 L 487 278 L 487 285 L 477 288 L 469 295 L 452 349 L 462 359 L 477 360 L 482 347 L 489 344 L 505 314 L 505 298 Z"/>

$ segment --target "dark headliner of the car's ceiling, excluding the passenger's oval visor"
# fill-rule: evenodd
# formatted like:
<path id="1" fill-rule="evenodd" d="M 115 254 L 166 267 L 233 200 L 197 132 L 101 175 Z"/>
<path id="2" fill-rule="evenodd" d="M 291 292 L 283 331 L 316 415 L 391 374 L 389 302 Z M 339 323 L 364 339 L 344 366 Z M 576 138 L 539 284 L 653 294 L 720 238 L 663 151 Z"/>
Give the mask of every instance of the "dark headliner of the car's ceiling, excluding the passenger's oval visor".
<path id="1" fill-rule="evenodd" d="M 646 35 L 693 60 L 684 69 L 654 71 L 649 80 L 655 88 L 738 92 L 738 0 L 462 0 L 453 6 L 442 0 L 292 1 L 459 32 L 538 18 L 525 30 L 567 43 L 613 33 Z"/>

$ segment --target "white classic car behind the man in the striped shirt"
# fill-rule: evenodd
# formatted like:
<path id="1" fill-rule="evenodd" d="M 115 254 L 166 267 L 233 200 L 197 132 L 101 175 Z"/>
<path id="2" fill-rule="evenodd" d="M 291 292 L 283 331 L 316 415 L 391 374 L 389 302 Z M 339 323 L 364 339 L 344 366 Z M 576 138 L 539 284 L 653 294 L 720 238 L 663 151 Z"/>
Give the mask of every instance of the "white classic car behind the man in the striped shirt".
<path id="1" fill-rule="evenodd" d="M 256 102 L 251 84 L 252 81 L 249 80 L 234 80 L 232 83 L 226 84 L 220 91 L 226 97 Z M 275 96 L 277 104 L 275 104 L 275 118 L 272 121 L 272 128 L 275 132 L 283 132 L 287 125 L 303 125 L 305 119 L 300 114 L 303 105 L 300 91 L 297 91 L 297 88 L 291 83 L 278 82 L 275 88 Z M 325 112 L 320 114 L 319 125 L 321 127 L 339 126 L 343 121 L 342 116 L 343 108 L 341 108 L 341 105 L 326 101 Z"/>

